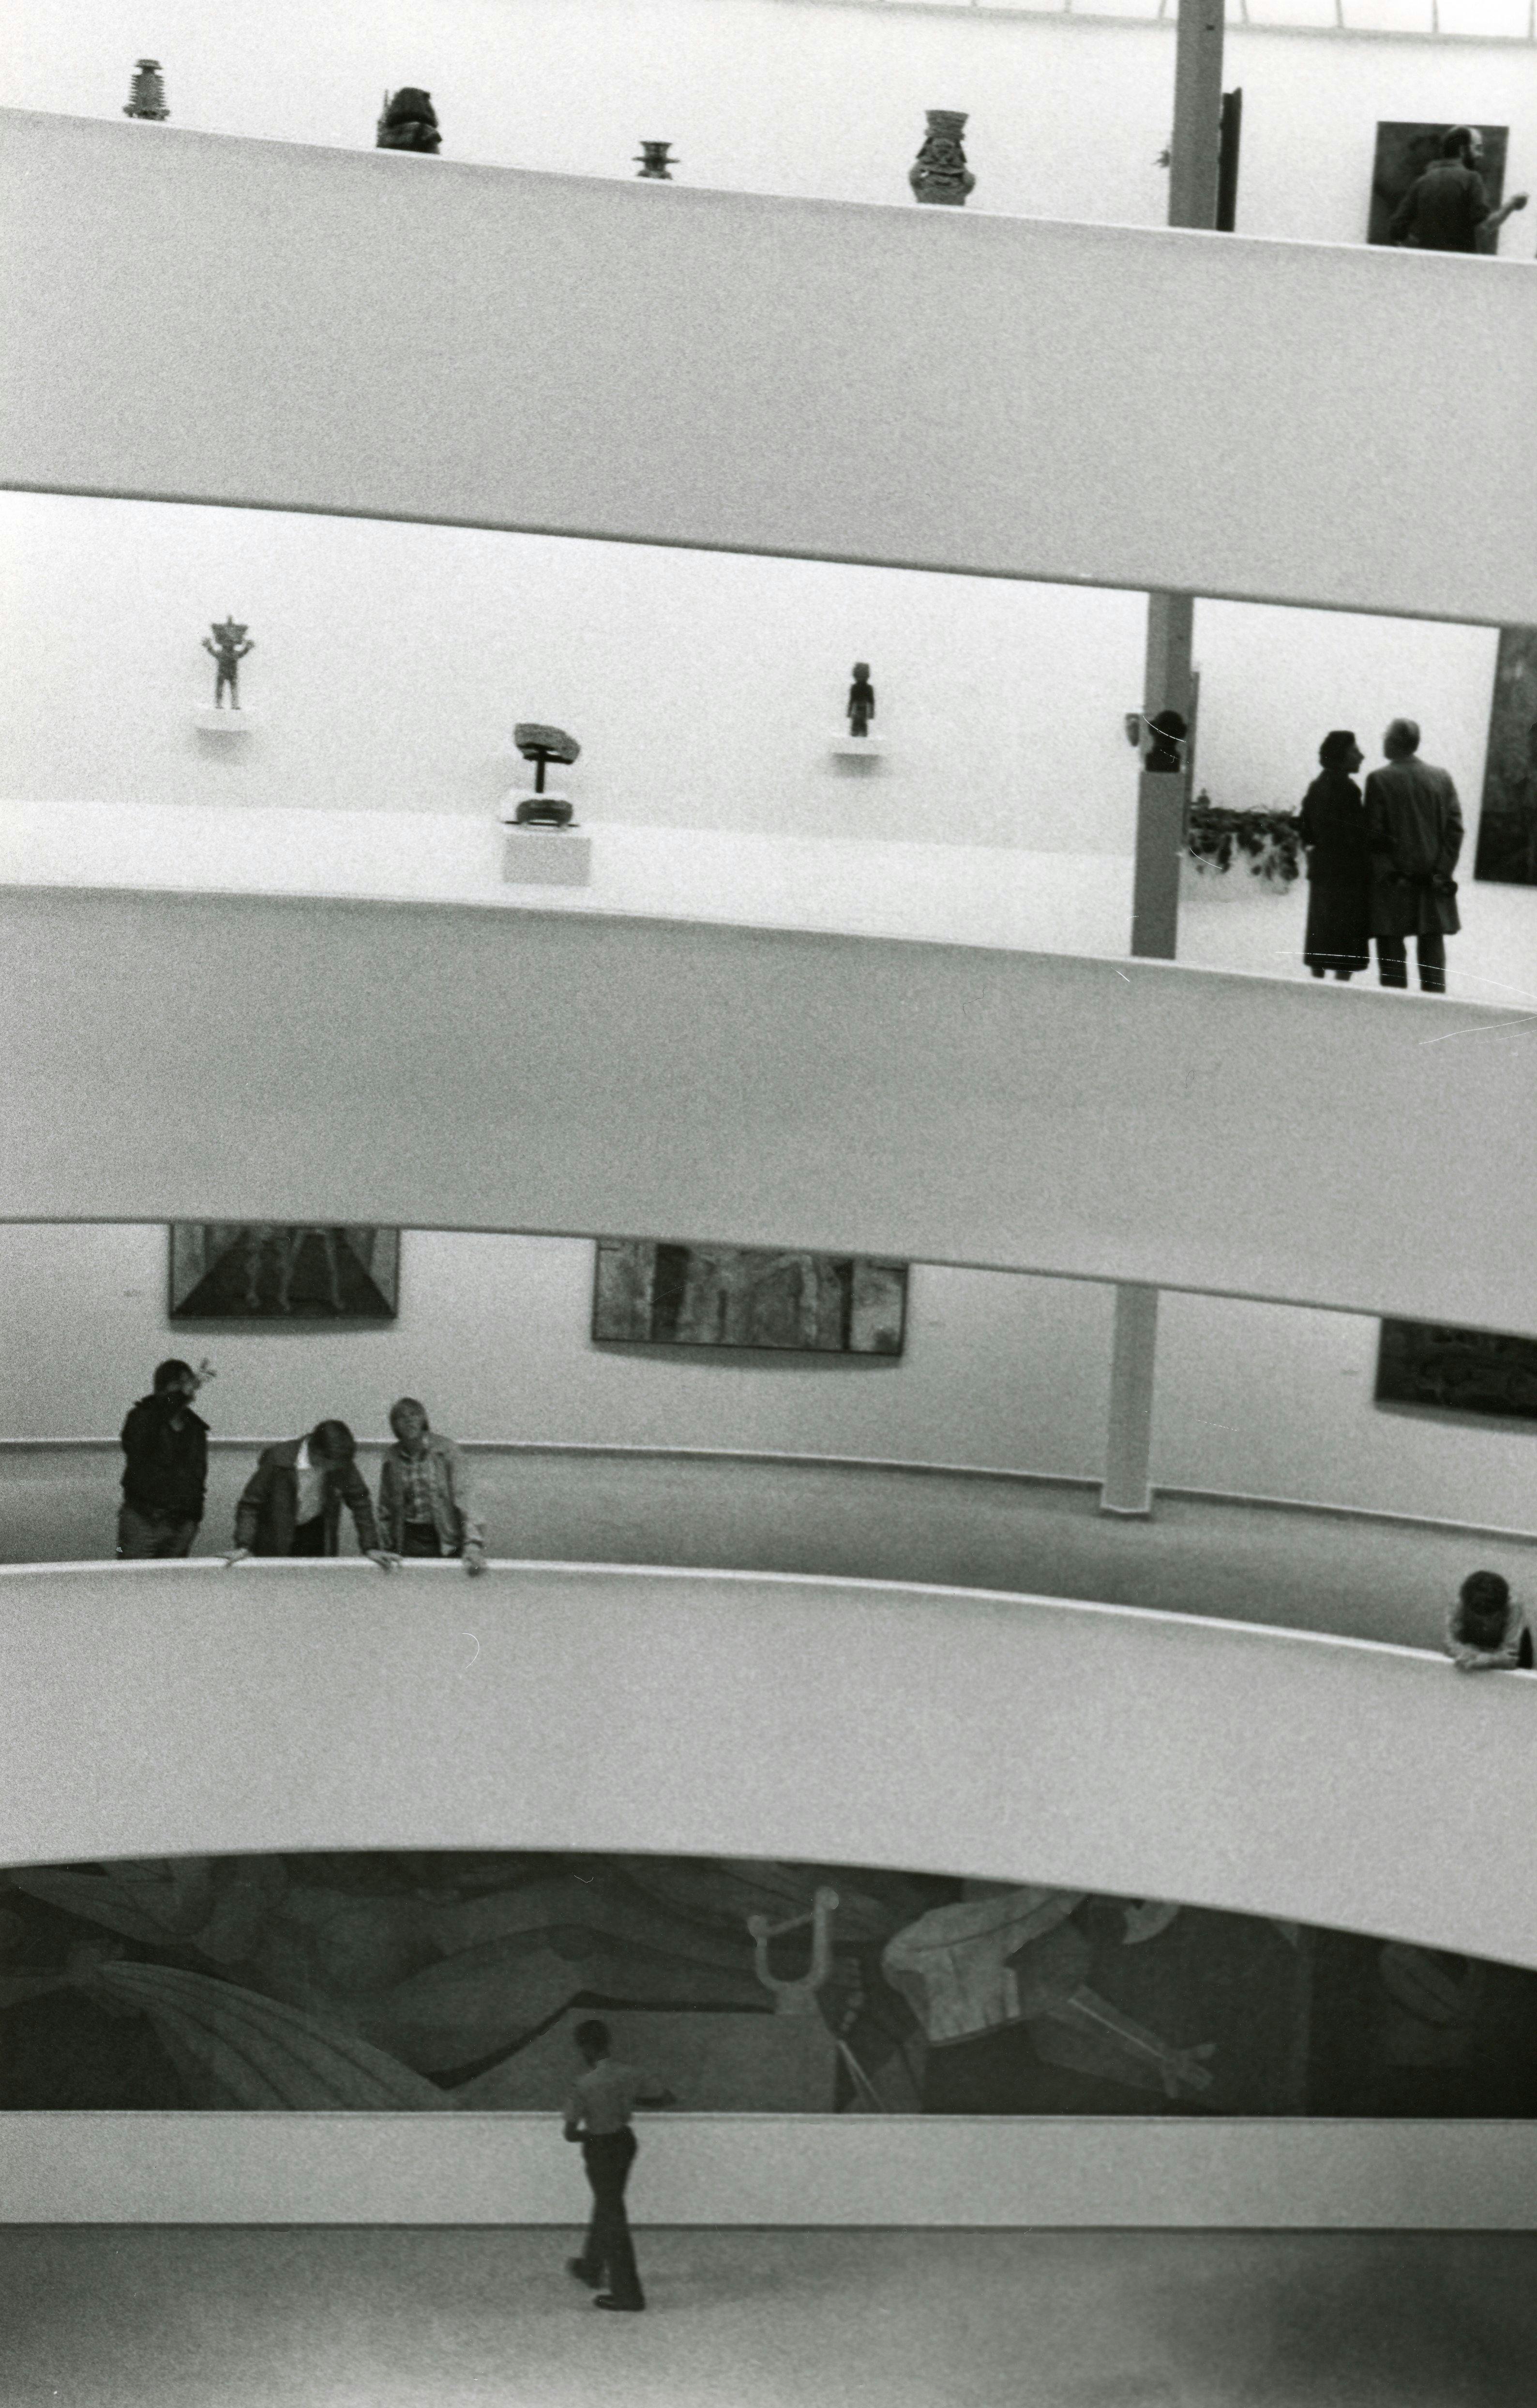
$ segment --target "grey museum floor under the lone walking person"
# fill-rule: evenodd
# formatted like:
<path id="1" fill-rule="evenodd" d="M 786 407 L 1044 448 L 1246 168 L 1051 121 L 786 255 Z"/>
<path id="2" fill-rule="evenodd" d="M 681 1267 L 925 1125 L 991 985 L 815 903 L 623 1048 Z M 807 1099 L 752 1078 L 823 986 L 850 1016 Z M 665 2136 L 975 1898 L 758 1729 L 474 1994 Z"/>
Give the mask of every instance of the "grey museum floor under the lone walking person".
<path id="1" fill-rule="evenodd" d="M 0 2227 L 5 2408 L 1518 2408 L 1537 2235 Z"/>

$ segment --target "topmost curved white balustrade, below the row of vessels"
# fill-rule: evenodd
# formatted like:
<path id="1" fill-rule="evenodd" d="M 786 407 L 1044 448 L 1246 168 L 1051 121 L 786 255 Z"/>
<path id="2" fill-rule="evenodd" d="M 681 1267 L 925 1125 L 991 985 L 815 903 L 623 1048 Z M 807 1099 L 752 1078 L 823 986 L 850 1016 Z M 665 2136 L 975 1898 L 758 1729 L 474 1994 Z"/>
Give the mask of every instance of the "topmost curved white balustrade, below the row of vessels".
<path id="1" fill-rule="evenodd" d="M 1520 260 L 0 135 L 0 484 L 1537 621 Z"/>

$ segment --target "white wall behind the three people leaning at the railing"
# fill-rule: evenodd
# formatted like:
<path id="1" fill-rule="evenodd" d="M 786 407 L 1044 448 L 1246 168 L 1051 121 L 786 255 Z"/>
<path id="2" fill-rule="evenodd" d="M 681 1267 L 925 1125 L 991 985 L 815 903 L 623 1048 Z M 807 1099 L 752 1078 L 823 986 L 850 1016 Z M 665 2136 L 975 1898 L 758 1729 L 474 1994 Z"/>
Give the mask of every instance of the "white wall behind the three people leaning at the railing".
<path id="1" fill-rule="evenodd" d="M 207 1351 L 224 1438 L 340 1413 L 376 1440 L 410 1392 L 487 1442 L 1103 1471 L 1111 1288 L 1094 1281 L 915 1264 L 899 1363 L 809 1361 L 593 1346 L 585 1240 L 407 1230 L 400 1320 L 335 1336 L 173 1327 L 166 1252 L 161 1226 L 0 1226 L 0 1445 L 111 1440 L 161 1356 Z M 1537 1430 L 1378 1411 L 1376 1332 L 1166 1291 L 1154 1481 L 1530 1529 Z M 26 1454 L 7 1450 L 0 1481 L 36 1479 Z"/>

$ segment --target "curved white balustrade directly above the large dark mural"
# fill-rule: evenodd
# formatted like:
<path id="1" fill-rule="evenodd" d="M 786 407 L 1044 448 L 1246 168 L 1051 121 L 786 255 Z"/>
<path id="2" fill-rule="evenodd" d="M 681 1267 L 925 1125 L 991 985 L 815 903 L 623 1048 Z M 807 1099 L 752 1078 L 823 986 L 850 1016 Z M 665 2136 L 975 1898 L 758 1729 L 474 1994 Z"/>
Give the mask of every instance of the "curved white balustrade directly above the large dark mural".
<path id="1" fill-rule="evenodd" d="M 1400 1647 L 785 1575 L 53 1565 L 0 1570 L 0 1693 L 10 1864 L 788 1857 L 1537 1965 L 1537 1686 Z"/>

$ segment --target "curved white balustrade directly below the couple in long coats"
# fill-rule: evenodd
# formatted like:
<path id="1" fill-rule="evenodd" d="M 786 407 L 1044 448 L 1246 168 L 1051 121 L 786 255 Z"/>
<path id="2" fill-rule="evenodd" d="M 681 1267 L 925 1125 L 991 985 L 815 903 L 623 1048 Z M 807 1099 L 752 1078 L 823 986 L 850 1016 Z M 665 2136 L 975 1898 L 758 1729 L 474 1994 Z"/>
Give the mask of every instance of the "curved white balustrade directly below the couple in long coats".
<path id="1" fill-rule="evenodd" d="M 219 896 L 0 893 L 0 951 L 7 1221 L 716 1238 L 1535 1327 L 1515 1011 Z"/>

